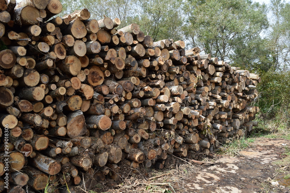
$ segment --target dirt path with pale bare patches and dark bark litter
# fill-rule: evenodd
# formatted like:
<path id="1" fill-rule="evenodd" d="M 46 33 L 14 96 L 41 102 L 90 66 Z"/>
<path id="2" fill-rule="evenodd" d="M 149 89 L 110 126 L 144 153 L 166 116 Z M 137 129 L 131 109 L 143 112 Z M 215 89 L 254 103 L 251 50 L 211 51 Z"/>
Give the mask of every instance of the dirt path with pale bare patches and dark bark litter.
<path id="1" fill-rule="evenodd" d="M 257 138 L 253 146 L 239 152 L 240 156 L 222 157 L 189 174 L 183 190 L 175 187 L 177 192 L 188 193 L 290 192 L 290 179 L 284 179 L 285 174 L 277 172 L 281 167 L 272 163 L 286 157 L 284 147 L 289 145 L 284 139 Z M 271 179 L 279 185 L 271 185 Z"/>

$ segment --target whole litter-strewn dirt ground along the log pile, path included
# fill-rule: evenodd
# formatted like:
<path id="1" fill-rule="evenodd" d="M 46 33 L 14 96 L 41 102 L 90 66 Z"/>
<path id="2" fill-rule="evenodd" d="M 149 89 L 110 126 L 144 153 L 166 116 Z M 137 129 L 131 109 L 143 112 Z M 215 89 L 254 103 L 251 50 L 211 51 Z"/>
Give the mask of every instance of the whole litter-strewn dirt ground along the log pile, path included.
<path id="1" fill-rule="evenodd" d="M 122 175 L 123 183 L 107 181 L 99 184 L 99 188 L 95 191 L 110 193 L 290 192 L 290 179 L 284 179 L 284 176 L 289 174 L 290 168 L 290 156 L 285 155 L 289 146 L 290 141 L 285 139 L 255 138 L 255 142 L 239 151 L 235 157 L 212 154 L 215 157 L 214 161 L 210 160 L 206 163 L 193 163 L 190 159 L 186 159 L 189 162 L 186 163 L 174 158 L 173 163 L 166 170 L 135 170 L 136 175 L 131 176 L 127 175 L 128 171 L 126 175 Z M 156 178 L 152 179 L 154 176 Z M 148 180 L 150 177 L 151 179 Z"/>

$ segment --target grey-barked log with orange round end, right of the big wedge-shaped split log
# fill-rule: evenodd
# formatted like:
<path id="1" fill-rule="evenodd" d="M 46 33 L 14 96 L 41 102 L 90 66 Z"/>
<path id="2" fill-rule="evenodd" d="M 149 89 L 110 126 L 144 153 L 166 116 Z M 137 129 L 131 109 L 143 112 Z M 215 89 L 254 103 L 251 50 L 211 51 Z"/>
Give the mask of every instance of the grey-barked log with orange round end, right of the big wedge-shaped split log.
<path id="1" fill-rule="evenodd" d="M 96 124 L 98 129 L 107 130 L 112 125 L 110 117 L 106 115 L 90 115 L 86 117 L 87 124 Z"/>

